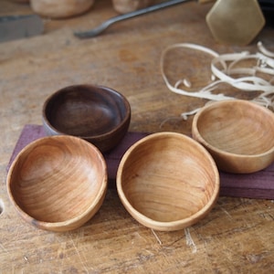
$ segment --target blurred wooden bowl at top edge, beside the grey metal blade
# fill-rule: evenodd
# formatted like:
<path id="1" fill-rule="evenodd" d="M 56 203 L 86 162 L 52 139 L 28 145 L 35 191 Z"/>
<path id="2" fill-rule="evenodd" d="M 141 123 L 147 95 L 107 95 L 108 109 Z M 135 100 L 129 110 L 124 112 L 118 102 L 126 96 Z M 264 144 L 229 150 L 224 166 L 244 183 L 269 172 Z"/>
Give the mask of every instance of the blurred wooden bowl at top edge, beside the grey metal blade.
<path id="1" fill-rule="evenodd" d="M 94 0 L 30 0 L 35 13 L 50 18 L 66 18 L 87 12 Z"/>

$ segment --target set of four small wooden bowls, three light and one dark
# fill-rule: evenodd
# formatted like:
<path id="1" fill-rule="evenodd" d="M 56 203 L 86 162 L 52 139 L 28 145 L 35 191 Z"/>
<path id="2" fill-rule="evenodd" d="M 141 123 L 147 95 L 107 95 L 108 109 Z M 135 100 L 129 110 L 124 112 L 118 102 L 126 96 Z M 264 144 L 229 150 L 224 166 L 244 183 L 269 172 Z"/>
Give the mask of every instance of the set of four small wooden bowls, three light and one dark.
<path id="1" fill-rule="evenodd" d="M 107 191 L 102 153 L 121 142 L 130 120 L 129 102 L 106 87 L 73 86 L 51 95 L 43 108 L 50 136 L 28 144 L 7 174 L 7 192 L 20 216 L 53 231 L 85 224 Z M 255 103 L 207 105 L 195 115 L 192 133 L 153 133 L 122 156 L 118 195 L 143 226 L 192 226 L 216 204 L 219 170 L 253 173 L 274 162 L 274 113 Z"/>

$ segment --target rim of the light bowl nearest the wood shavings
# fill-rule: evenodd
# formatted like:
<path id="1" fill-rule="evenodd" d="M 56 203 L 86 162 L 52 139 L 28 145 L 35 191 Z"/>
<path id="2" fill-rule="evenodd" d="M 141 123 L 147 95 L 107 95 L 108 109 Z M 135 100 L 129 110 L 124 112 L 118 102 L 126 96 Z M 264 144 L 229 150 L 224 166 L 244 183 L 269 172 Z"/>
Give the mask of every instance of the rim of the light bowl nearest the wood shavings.
<path id="1" fill-rule="evenodd" d="M 216 146 L 212 145 L 210 142 L 206 142 L 203 135 L 200 133 L 199 129 L 198 129 L 198 121 L 200 119 L 200 117 L 204 114 L 205 111 L 210 110 L 211 108 L 215 107 L 215 106 L 220 106 L 220 105 L 233 105 L 234 103 L 238 103 L 241 105 L 248 105 L 248 107 L 252 107 L 252 108 L 256 108 L 258 111 L 262 111 L 264 113 L 266 113 L 268 116 L 272 116 L 273 121 L 274 121 L 274 113 L 272 111 L 270 111 L 269 109 L 255 103 L 255 102 L 251 102 L 248 100 L 220 100 L 220 101 L 214 101 L 211 102 L 208 105 L 205 105 L 204 107 L 202 107 L 199 111 L 197 111 L 197 113 L 195 114 L 195 117 L 193 119 L 192 122 L 192 135 L 194 137 L 195 140 L 197 140 L 198 142 L 200 142 L 201 144 L 203 144 L 205 147 L 207 147 L 208 149 L 210 149 L 211 151 L 215 152 L 215 153 L 219 153 L 219 154 L 223 154 L 225 156 L 228 157 L 237 157 L 237 158 L 249 158 L 249 159 L 253 159 L 253 158 L 258 158 L 258 157 L 263 157 L 266 155 L 269 155 L 270 153 L 274 153 L 274 146 L 272 146 L 272 148 L 270 148 L 268 151 L 264 152 L 264 153 L 256 153 L 256 154 L 238 154 L 238 153 L 230 153 L 224 150 L 221 150 L 219 148 L 217 148 Z"/>

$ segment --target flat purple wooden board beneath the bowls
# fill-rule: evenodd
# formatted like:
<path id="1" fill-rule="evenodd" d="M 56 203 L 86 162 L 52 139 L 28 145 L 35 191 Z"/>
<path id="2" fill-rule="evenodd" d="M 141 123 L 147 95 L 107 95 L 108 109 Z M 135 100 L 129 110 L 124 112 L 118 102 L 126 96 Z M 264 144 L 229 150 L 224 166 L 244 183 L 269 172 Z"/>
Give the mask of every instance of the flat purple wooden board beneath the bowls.
<path id="1" fill-rule="evenodd" d="M 116 172 L 123 153 L 125 153 L 134 142 L 137 142 L 146 135 L 147 133 L 143 132 L 128 132 L 116 148 L 109 153 L 104 153 L 111 186 L 114 184 L 113 181 L 115 181 Z M 19 153 L 26 144 L 44 136 L 45 132 L 41 125 L 27 124 L 16 143 L 15 150 L 7 165 L 7 170 L 16 158 L 17 153 Z M 227 174 L 220 172 L 220 183 L 220 195 L 274 199 L 274 163 L 267 169 L 254 174 Z"/>

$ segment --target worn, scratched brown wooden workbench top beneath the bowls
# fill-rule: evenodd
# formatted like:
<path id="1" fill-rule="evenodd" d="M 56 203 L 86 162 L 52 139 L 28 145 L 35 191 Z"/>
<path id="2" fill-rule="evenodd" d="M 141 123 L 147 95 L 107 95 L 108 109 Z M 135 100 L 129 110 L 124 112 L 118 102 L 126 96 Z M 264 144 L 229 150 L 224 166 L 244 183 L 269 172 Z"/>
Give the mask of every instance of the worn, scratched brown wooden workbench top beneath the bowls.
<path id="1" fill-rule="evenodd" d="M 5 191 L 5 168 L 24 125 L 41 124 L 44 100 L 71 84 L 94 83 L 121 91 L 132 105 L 132 132 L 190 134 L 192 118 L 163 121 L 200 107 L 205 100 L 185 98 L 166 88 L 159 69 L 163 49 L 189 42 L 219 53 L 252 51 L 258 40 L 274 48 L 271 27 L 245 48 L 216 44 L 205 24 L 210 7 L 188 2 L 112 26 L 100 37 L 73 37 L 74 30 L 89 29 L 117 15 L 110 0 L 100 0 L 85 15 L 46 18 L 42 36 L 0 44 L 0 273 L 274 271 L 271 200 L 222 196 L 195 226 L 153 232 L 129 216 L 112 187 L 99 213 L 85 226 L 58 234 L 27 225 Z M 1 15 L 30 12 L 28 5 L 0 0 Z M 177 73 L 183 66 L 197 86 L 208 79 L 208 67 L 198 54 L 176 62 L 170 58 L 169 71 Z"/>

